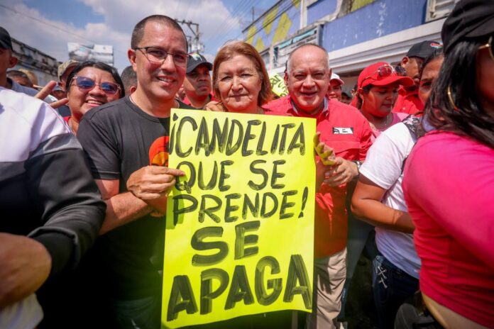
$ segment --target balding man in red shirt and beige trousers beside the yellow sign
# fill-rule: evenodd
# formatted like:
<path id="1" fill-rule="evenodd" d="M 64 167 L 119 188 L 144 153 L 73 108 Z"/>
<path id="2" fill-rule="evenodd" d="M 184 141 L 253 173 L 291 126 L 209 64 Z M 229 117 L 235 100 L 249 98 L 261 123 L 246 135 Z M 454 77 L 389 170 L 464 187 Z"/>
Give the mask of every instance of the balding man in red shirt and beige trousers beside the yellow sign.
<path id="1" fill-rule="evenodd" d="M 347 183 L 358 175 L 370 147 L 369 124 L 356 108 L 326 93 L 331 79 L 328 53 L 318 45 L 302 45 L 288 57 L 285 84 L 289 94 L 265 106 L 268 113 L 315 118 L 320 140 L 332 147 L 334 165 L 317 158 L 314 230 L 314 310 L 307 328 L 336 328 L 346 277 Z"/>

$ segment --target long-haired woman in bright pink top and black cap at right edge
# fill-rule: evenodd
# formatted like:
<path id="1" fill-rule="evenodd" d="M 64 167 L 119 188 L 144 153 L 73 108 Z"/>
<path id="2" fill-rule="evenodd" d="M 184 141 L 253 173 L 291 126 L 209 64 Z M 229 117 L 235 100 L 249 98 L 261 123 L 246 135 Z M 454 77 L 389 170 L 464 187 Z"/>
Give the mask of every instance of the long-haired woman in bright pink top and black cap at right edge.
<path id="1" fill-rule="evenodd" d="M 436 130 L 407 159 L 424 302 L 445 328 L 494 328 L 494 1 L 444 22 L 444 64 L 426 104 Z"/>

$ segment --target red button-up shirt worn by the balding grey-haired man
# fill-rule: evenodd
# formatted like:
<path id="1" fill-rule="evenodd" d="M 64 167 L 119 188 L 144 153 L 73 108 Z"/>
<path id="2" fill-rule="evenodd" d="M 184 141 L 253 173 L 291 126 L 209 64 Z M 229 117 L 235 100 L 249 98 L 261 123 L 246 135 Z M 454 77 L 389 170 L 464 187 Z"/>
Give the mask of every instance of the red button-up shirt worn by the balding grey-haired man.
<path id="1" fill-rule="evenodd" d="M 297 112 L 290 95 L 263 106 L 266 114 L 316 118 L 321 141 L 333 147 L 337 157 L 346 160 L 364 160 L 370 147 L 372 130 L 366 118 L 353 106 L 334 99 L 328 101 L 326 111 L 314 116 Z M 322 184 L 316 193 L 314 214 L 314 256 L 327 257 L 346 247 L 348 216 L 345 207 L 346 184 L 331 187 Z"/>

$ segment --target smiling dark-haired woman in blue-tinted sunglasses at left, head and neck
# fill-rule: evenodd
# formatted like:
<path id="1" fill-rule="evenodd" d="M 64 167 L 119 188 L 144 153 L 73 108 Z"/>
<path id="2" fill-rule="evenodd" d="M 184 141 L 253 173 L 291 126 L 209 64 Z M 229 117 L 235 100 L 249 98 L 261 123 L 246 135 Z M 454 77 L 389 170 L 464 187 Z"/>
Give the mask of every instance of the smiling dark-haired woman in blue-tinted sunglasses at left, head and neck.
<path id="1" fill-rule="evenodd" d="M 65 117 L 65 122 L 77 135 L 84 113 L 124 96 L 124 83 L 114 67 L 102 62 L 82 62 L 67 77 L 67 105 L 71 116 Z"/>

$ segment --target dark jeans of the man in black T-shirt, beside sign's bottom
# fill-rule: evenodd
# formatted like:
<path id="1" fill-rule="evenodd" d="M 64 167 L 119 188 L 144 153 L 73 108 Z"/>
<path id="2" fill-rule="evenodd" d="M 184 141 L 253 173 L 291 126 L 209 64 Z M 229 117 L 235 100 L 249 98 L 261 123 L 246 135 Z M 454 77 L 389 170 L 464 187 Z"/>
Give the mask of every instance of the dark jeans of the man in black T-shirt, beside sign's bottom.
<path id="1" fill-rule="evenodd" d="M 160 296 L 143 299 L 114 300 L 116 323 L 121 329 L 159 329 L 161 326 Z"/>

